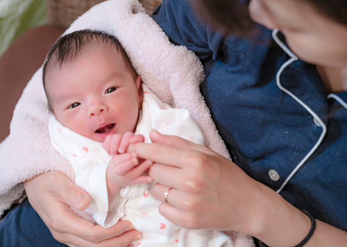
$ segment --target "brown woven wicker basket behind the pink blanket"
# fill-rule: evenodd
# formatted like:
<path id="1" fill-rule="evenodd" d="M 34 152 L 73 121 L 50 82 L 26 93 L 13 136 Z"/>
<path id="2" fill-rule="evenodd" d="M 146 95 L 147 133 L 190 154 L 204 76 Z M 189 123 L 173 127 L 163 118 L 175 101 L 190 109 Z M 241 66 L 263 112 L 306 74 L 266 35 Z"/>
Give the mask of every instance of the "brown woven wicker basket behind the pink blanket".
<path id="1" fill-rule="evenodd" d="M 105 0 L 47 0 L 48 23 L 69 27 L 70 24 L 94 5 Z M 139 0 L 151 15 L 162 0 Z"/>

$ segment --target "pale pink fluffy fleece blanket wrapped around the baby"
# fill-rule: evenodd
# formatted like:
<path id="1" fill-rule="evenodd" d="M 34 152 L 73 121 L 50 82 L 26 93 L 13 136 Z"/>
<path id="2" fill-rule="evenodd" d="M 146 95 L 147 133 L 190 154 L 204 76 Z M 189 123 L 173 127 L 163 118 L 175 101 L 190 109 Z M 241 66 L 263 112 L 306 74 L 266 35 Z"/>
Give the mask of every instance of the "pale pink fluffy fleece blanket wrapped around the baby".
<path id="1" fill-rule="evenodd" d="M 102 2 L 79 17 L 64 34 L 81 29 L 106 31 L 122 43 L 143 82 L 165 103 L 188 110 L 202 130 L 206 146 L 230 159 L 200 93 L 203 66 L 192 51 L 172 44 L 137 0 Z M 21 197 L 23 181 L 58 170 L 74 181 L 68 161 L 53 148 L 48 133 L 50 113 L 42 86 L 42 67 L 23 91 L 0 144 L 0 215 Z M 84 211 L 82 218 L 93 219 Z M 244 234 L 228 232 L 235 247 L 254 246 Z"/>

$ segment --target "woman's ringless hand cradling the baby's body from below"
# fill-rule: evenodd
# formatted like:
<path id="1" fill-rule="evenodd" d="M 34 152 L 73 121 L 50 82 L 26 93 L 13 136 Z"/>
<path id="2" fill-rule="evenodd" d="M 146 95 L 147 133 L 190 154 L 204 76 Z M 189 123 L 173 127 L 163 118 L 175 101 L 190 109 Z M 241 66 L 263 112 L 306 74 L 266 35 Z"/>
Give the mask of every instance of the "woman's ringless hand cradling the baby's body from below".
<path id="1" fill-rule="evenodd" d="M 24 182 L 31 206 L 40 215 L 53 237 L 70 247 L 125 247 L 141 234 L 129 221 L 110 228 L 94 226 L 70 209 L 83 210 L 90 204 L 88 194 L 58 171 L 40 174 Z"/>

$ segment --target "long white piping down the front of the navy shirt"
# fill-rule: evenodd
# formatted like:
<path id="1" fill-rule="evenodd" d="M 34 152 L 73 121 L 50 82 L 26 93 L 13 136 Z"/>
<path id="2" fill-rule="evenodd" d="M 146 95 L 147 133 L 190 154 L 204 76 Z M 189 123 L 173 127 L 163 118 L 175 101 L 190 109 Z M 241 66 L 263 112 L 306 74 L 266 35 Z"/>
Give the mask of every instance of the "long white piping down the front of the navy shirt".
<path id="1" fill-rule="evenodd" d="M 294 94 L 292 94 L 291 92 L 289 92 L 286 88 L 284 88 L 282 85 L 281 85 L 281 74 L 282 72 L 286 69 L 286 67 L 289 66 L 289 64 L 293 63 L 294 61 L 297 61 L 298 60 L 298 57 L 295 56 L 290 50 L 289 48 L 282 42 L 280 41 L 280 39 L 277 37 L 277 33 L 279 32 L 279 29 L 275 29 L 273 32 L 272 32 L 272 37 L 274 38 L 274 40 L 278 43 L 278 45 L 281 46 L 281 48 L 291 57 L 286 63 L 284 63 L 279 72 L 277 73 L 277 76 L 276 76 L 276 81 L 277 81 L 277 85 L 278 87 L 288 93 L 293 99 L 295 99 L 300 105 L 302 105 L 317 121 L 319 124 L 321 124 L 322 128 L 323 128 L 323 131 L 322 131 L 322 134 L 321 136 L 319 137 L 316 145 L 314 145 L 314 147 L 311 149 L 311 151 L 305 156 L 305 158 L 303 158 L 303 160 L 298 164 L 296 165 L 295 169 L 290 173 L 290 175 L 287 177 L 286 181 L 282 184 L 281 188 L 276 191 L 277 193 L 280 193 L 283 188 L 286 186 L 286 184 L 289 182 L 289 180 L 292 178 L 292 176 L 296 173 L 296 171 L 301 167 L 301 165 L 303 165 L 308 158 L 310 158 L 310 156 L 314 153 L 314 151 L 316 151 L 316 149 L 318 148 L 318 146 L 321 144 L 321 142 L 323 141 L 323 138 L 327 132 L 327 127 L 325 126 L 325 124 L 323 123 L 323 121 L 317 116 L 317 114 L 315 114 L 311 108 L 309 108 L 305 103 L 303 103 L 301 100 L 299 100 Z M 333 97 L 333 96 L 332 96 Z M 340 101 L 339 101 L 340 102 Z M 345 103 L 346 104 L 346 103 Z"/>

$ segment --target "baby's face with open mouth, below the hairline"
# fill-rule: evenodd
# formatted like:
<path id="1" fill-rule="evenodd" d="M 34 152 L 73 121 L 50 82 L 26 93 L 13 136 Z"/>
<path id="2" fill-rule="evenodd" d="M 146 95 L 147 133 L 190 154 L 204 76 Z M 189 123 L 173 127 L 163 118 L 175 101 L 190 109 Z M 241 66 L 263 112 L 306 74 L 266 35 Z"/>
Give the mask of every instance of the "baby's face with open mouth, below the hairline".
<path id="1" fill-rule="evenodd" d="M 46 88 L 61 124 L 104 142 L 110 134 L 134 131 L 142 87 L 141 78 L 133 78 L 115 47 L 100 46 L 72 64 L 53 68 L 46 75 Z"/>

